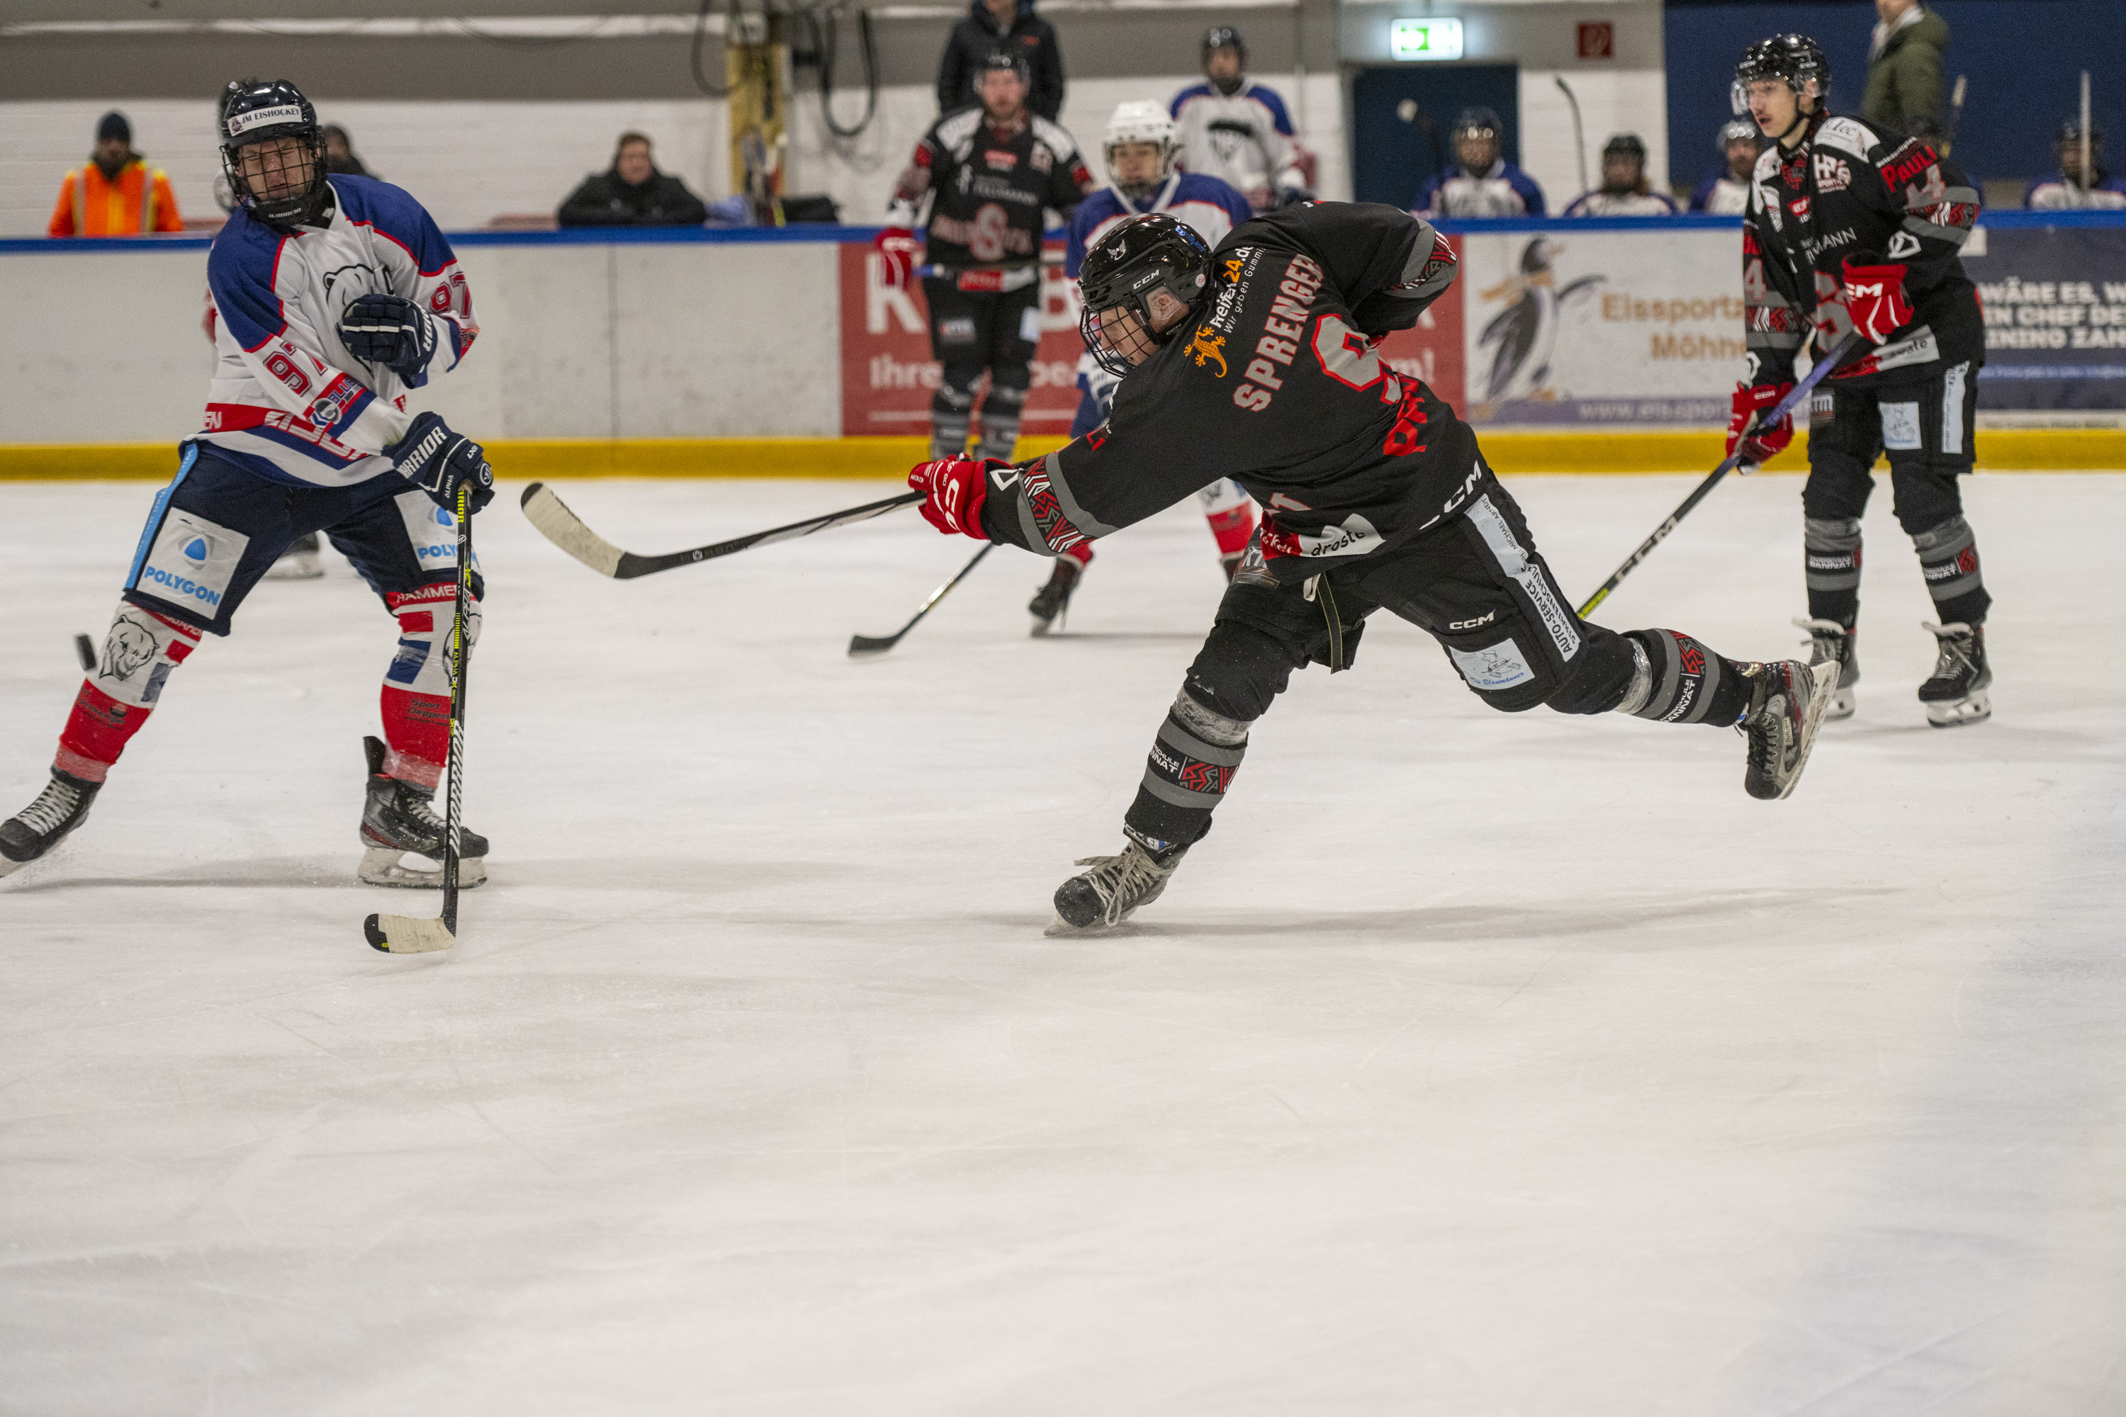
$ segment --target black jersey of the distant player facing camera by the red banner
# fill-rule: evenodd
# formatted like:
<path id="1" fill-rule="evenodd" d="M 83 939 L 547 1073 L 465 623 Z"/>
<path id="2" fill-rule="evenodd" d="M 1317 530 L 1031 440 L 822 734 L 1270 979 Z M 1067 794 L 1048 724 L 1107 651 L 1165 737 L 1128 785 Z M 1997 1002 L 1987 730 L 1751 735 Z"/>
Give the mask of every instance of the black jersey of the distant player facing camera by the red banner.
<path id="1" fill-rule="evenodd" d="M 1061 125 L 1029 115 L 999 130 L 982 108 L 965 108 L 923 134 L 893 189 L 887 223 L 914 227 L 929 195 L 925 261 L 955 270 L 1033 266 L 1048 225 L 1044 208 L 1067 221 L 1095 185 Z"/>

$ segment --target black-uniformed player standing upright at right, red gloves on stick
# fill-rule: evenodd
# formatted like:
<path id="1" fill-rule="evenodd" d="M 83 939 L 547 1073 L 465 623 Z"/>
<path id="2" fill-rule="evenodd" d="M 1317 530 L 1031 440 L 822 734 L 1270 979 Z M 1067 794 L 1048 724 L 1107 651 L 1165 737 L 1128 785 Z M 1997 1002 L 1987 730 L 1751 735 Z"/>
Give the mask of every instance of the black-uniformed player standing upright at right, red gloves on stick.
<path id="1" fill-rule="evenodd" d="M 1828 98 L 1830 62 L 1801 34 L 1752 45 L 1735 68 L 1735 110 L 1748 110 L 1771 147 L 1756 161 L 1743 225 L 1750 368 L 1735 389 L 1728 453 L 1745 419 L 1792 389 L 1811 336 L 1820 359 L 1860 331 L 1867 353 L 1830 374 L 1809 410 L 1809 614 L 1796 625 L 1816 665 L 1839 665 L 1828 716 L 1845 718 L 1860 678 L 1860 512 L 1875 484 L 1869 470 L 1888 453 L 1896 520 L 1935 599 L 1926 629 L 1937 656 L 1920 703 L 1937 729 L 1984 722 L 1992 597 L 1956 482 L 1971 472 L 1986 363 L 1977 291 L 1958 259 L 1979 193 L 1924 138 L 1830 117 Z M 1756 427 L 1743 455 L 1762 461 L 1790 438 L 1790 419 Z"/>

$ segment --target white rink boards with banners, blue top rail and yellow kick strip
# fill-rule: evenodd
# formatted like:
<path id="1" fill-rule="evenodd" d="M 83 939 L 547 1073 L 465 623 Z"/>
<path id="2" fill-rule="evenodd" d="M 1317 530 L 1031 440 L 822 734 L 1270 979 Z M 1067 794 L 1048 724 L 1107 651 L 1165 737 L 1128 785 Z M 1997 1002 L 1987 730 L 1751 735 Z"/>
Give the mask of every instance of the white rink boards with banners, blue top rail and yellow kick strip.
<path id="1" fill-rule="evenodd" d="M 1382 355 L 1461 410 L 1501 472 L 1720 459 L 1743 359 L 1735 219 L 1448 225 L 1461 280 Z M 506 476 L 906 467 L 938 365 L 921 289 L 880 280 L 872 236 L 457 234 L 480 336 L 410 406 L 480 438 Z M 198 236 L 0 240 L 0 476 L 168 476 L 215 365 L 206 253 Z M 1988 317 L 1981 465 L 2126 463 L 2107 436 L 2126 427 L 2126 212 L 1988 212 L 1967 253 Z M 1078 295 L 1052 266 L 1040 310 L 1025 453 L 1078 402 Z"/>

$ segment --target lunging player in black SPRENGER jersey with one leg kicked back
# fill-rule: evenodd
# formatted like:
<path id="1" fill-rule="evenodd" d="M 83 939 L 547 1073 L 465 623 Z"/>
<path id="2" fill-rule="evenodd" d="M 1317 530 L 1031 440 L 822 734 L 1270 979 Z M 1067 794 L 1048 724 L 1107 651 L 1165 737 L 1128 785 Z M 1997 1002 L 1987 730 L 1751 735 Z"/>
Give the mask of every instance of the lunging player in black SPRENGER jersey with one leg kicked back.
<path id="1" fill-rule="evenodd" d="M 1376 610 L 1431 631 L 1492 707 L 1737 724 L 1750 795 L 1794 790 L 1835 676 L 1580 620 L 1469 425 L 1380 361 L 1452 280 L 1448 242 L 1393 206 L 1284 208 L 1216 251 L 1167 215 L 1133 217 L 1080 270 L 1086 342 L 1127 370 L 1110 421 L 1016 467 L 910 474 L 940 531 L 1050 554 L 1216 476 L 1265 508 L 1152 741 L 1123 852 L 1078 863 L 1052 928 L 1112 926 L 1157 897 L 1293 669 L 1348 669 Z"/>

